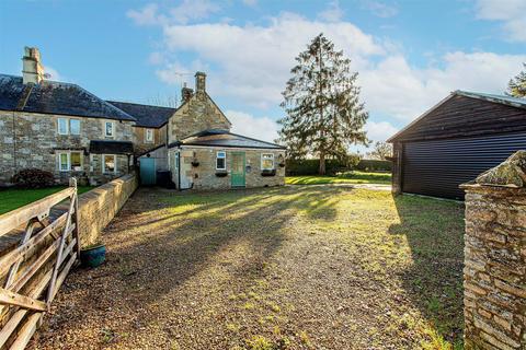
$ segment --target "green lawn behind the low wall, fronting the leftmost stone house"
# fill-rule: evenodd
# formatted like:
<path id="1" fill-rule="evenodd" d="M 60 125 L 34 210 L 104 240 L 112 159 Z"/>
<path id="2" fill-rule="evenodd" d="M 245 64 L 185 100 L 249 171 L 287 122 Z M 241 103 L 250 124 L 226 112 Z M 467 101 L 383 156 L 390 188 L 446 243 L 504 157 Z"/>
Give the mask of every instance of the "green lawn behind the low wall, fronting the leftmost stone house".
<path id="1" fill-rule="evenodd" d="M 8 211 L 14 210 L 16 208 L 28 205 L 35 200 L 44 198 L 46 196 L 58 192 L 59 190 L 66 188 L 66 186 L 56 186 L 48 188 L 37 188 L 37 189 L 4 189 L 0 190 L 0 214 L 7 213 Z M 79 195 L 89 191 L 93 187 L 91 186 L 79 186 Z"/>

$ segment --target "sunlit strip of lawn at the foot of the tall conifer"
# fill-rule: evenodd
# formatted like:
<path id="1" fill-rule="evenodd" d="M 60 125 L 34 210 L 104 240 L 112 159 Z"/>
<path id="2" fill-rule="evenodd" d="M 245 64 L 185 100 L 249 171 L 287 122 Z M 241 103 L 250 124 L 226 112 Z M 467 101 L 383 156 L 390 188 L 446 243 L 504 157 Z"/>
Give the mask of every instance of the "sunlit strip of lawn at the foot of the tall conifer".
<path id="1" fill-rule="evenodd" d="M 391 184 L 389 173 L 352 172 L 339 176 L 287 176 L 289 185 L 320 185 L 320 184 Z"/>

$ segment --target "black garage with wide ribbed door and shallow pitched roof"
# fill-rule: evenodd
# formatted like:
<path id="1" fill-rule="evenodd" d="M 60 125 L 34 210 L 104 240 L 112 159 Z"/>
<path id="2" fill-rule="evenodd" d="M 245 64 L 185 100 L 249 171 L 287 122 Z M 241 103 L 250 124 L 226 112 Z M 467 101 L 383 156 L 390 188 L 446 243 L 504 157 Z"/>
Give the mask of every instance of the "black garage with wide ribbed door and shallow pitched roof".
<path id="1" fill-rule="evenodd" d="M 464 199 L 460 184 L 526 150 L 526 100 L 456 91 L 388 142 L 393 192 Z"/>

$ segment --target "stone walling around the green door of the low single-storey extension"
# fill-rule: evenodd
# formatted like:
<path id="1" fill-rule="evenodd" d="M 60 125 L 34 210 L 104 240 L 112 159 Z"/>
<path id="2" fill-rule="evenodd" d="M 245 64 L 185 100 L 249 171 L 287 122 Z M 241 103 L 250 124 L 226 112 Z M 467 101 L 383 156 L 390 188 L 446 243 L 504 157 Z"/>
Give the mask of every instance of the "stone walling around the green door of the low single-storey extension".
<path id="1" fill-rule="evenodd" d="M 216 152 L 227 152 L 227 176 L 218 177 L 216 175 Z M 284 155 L 284 151 L 267 150 L 231 150 L 231 149 L 204 149 L 204 148 L 185 148 L 181 152 L 181 176 L 186 176 L 194 183 L 194 189 L 228 189 L 231 188 L 231 153 L 244 152 L 245 165 L 249 171 L 245 174 L 247 188 L 264 187 L 264 186 L 283 186 L 285 185 L 285 167 L 279 167 L 278 156 Z M 261 154 L 274 153 L 274 162 L 276 167 L 275 176 L 261 175 Z M 192 161 L 197 160 L 199 165 L 192 166 Z M 176 174 L 174 182 L 176 183 Z M 184 182 L 183 182 L 184 183 Z"/>

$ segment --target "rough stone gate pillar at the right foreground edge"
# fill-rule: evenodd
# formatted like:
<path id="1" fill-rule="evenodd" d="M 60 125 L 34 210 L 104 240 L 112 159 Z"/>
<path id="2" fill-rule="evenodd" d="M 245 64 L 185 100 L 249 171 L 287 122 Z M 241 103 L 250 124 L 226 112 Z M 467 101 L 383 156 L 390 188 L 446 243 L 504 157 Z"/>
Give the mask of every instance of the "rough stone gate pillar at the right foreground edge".
<path id="1" fill-rule="evenodd" d="M 465 349 L 526 349 L 526 151 L 461 187 Z"/>

